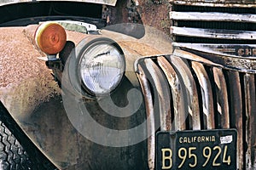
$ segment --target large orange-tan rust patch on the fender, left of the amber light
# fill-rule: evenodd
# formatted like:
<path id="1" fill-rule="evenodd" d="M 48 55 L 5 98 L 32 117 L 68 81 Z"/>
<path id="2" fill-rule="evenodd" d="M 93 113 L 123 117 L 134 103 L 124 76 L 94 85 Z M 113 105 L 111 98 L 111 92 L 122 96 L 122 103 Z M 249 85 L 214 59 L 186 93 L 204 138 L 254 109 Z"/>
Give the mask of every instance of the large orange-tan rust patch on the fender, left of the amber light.
<path id="1" fill-rule="evenodd" d="M 30 113 L 40 102 L 60 93 L 22 27 L 0 28 L 0 39 L 0 99 L 11 113 Z"/>

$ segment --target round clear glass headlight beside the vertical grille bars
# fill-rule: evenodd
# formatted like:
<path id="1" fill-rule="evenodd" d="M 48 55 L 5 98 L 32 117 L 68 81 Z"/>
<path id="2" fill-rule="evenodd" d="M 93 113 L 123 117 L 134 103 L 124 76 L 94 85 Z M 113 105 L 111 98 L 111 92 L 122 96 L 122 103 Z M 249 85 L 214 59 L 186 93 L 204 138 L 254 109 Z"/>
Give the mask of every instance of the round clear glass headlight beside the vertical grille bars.
<path id="1" fill-rule="evenodd" d="M 125 72 L 124 54 L 111 40 L 92 43 L 79 60 L 82 86 L 90 94 L 110 93 L 119 85 Z"/>

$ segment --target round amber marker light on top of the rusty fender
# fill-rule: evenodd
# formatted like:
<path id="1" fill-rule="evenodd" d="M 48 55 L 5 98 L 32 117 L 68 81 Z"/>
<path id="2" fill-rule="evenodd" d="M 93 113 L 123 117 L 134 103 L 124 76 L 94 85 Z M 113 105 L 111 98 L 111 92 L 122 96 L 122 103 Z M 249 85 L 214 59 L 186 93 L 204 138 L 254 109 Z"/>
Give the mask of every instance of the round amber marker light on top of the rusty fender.
<path id="1" fill-rule="evenodd" d="M 67 42 L 65 29 L 56 22 L 45 22 L 38 26 L 35 41 L 45 54 L 58 54 Z"/>

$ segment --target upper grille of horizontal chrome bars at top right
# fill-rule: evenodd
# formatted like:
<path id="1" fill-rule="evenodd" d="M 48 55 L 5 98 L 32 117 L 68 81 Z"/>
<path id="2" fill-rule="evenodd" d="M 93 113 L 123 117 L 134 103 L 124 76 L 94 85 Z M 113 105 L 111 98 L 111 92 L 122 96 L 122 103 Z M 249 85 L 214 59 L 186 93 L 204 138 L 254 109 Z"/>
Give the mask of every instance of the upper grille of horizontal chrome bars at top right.
<path id="1" fill-rule="evenodd" d="M 172 37 L 175 42 L 255 44 L 256 5 L 240 6 L 177 1 L 170 12 Z"/>

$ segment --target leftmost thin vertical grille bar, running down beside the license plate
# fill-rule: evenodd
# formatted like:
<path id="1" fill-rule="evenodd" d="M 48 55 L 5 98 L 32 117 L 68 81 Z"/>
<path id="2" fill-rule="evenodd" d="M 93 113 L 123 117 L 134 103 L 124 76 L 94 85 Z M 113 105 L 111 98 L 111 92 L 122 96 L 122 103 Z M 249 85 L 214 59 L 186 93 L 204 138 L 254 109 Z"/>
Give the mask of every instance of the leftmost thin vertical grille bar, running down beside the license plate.
<path id="1" fill-rule="evenodd" d="M 137 77 L 141 84 L 143 90 L 143 96 L 145 101 L 146 113 L 148 117 L 147 122 L 147 132 L 152 134 L 148 138 L 148 167 L 149 169 L 154 169 L 154 160 L 155 160 L 155 136 L 154 132 L 156 131 L 154 125 L 154 107 L 151 90 L 148 84 L 147 77 L 141 67 L 138 65 Z"/>

